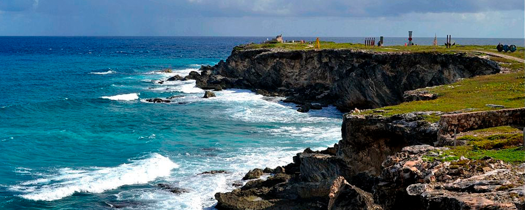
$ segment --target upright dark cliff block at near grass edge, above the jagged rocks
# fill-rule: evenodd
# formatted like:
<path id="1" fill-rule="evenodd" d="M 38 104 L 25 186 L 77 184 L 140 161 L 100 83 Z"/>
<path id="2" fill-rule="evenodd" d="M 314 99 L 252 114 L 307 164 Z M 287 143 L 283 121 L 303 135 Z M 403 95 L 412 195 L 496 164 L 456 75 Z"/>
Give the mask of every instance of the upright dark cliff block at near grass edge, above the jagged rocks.
<path id="1" fill-rule="evenodd" d="M 428 114 L 434 113 L 415 112 L 392 117 L 345 114 L 337 155 L 352 165 L 352 174 L 379 175 L 381 163 L 388 155 L 408 145 L 436 141 L 437 123 L 424 120 Z"/>

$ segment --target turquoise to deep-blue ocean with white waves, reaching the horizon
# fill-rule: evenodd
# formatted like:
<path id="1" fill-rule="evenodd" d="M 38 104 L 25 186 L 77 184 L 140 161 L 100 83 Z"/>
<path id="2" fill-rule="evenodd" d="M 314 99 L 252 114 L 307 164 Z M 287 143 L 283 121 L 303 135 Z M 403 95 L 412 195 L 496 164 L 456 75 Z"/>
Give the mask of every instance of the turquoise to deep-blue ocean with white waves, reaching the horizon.
<path id="1" fill-rule="evenodd" d="M 342 113 L 334 107 L 300 113 L 248 90 L 203 99 L 195 81 L 158 83 L 266 38 L 0 37 L 0 209 L 214 209 L 214 194 L 233 190 L 248 170 L 337 143 Z M 171 96 L 183 97 L 145 101 Z M 199 175 L 210 170 L 229 173 Z"/>

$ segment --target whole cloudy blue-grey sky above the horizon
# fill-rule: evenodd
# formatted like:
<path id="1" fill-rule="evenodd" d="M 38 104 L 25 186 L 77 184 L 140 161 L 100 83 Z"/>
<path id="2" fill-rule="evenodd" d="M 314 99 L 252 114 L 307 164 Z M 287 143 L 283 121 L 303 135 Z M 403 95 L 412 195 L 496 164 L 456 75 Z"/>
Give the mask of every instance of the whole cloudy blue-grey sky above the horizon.
<path id="1" fill-rule="evenodd" d="M 0 36 L 523 38 L 523 0 L 0 0 Z"/>

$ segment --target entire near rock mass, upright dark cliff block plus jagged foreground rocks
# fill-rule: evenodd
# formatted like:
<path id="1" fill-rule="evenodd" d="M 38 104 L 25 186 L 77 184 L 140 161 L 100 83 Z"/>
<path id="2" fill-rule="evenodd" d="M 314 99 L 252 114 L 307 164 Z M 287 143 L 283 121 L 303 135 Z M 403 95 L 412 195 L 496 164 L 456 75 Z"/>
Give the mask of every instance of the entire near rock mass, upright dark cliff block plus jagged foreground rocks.
<path id="1" fill-rule="evenodd" d="M 218 209 L 524 209 L 525 164 L 489 157 L 448 160 L 427 112 L 343 117 L 342 140 L 254 169 Z M 263 174 L 270 176 L 264 180 Z"/>

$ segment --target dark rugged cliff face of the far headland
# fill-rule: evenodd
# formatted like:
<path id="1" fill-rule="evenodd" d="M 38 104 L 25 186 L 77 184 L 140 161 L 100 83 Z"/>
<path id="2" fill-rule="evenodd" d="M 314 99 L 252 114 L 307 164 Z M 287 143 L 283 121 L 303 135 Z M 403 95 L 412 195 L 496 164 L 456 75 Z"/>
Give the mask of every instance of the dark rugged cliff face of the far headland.
<path id="1" fill-rule="evenodd" d="M 367 53 L 350 49 L 233 51 L 197 86 L 262 89 L 299 101 L 335 104 L 341 110 L 403 101 L 403 93 L 459 78 L 495 74 L 496 62 L 464 53 Z"/>

